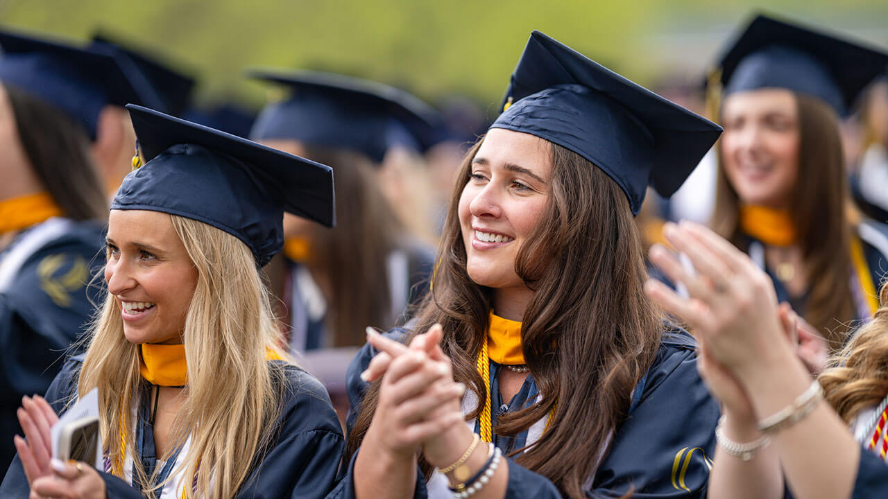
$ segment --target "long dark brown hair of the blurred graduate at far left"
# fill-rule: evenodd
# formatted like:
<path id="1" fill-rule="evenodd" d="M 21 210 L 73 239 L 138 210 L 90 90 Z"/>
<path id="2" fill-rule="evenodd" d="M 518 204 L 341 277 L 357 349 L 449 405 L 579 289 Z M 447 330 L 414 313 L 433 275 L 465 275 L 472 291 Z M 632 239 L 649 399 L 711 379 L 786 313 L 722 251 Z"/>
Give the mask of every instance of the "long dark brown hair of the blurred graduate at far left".
<path id="1" fill-rule="evenodd" d="M 83 127 L 25 91 L 4 88 L 28 162 L 65 216 L 107 218 L 107 200 Z"/>

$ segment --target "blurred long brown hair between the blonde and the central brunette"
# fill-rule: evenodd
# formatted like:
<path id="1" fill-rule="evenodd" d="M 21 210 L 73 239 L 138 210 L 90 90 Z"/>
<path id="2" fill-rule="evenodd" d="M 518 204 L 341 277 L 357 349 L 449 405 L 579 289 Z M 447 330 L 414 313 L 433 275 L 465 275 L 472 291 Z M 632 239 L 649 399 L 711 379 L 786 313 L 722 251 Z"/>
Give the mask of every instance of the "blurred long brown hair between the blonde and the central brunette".
<path id="1" fill-rule="evenodd" d="M 390 286 L 396 283 L 389 282 L 387 258 L 397 247 L 400 223 L 366 156 L 306 146 L 305 157 L 336 175 L 337 226 L 312 226 L 307 262 L 328 284 L 326 327 L 333 346 L 363 345 L 367 326 L 394 326 Z"/>

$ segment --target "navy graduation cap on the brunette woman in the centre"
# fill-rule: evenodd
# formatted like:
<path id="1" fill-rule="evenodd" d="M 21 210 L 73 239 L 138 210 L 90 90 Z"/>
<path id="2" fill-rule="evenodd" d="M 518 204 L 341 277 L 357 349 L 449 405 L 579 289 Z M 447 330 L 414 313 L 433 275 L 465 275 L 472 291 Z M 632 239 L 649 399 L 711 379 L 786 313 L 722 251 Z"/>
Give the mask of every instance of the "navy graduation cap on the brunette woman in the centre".
<path id="1" fill-rule="evenodd" d="M 491 128 L 567 147 L 619 185 L 638 214 L 648 185 L 678 190 L 721 127 L 534 31 Z"/>

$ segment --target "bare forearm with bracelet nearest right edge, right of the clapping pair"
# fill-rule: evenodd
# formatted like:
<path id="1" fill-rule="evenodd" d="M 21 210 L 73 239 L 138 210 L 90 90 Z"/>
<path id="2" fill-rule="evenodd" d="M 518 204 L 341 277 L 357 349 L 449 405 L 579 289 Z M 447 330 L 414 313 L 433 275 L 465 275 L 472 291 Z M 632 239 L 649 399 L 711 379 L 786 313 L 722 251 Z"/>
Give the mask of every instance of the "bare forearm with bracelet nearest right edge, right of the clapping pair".
<path id="1" fill-rule="evenodd" d="M 793 403 L 811 385 L 811 376 L 793 355 L 773 368 L 748 376 L 748 392 L 759 419 Z M 851 496 L 860 446 L 842 420 L 821 401 L 797 424 L 771 435 L 789 487 L 797 499 Z"/>

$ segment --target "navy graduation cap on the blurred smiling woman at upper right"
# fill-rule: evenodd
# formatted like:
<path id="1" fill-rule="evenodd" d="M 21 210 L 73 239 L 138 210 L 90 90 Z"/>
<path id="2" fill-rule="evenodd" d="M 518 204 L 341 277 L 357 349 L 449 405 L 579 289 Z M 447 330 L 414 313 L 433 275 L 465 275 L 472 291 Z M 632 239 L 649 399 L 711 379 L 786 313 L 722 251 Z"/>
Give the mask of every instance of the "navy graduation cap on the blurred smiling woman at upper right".
<path id="1" fill-rule="evenodd" d="M 725 95 L 781 88 L 822 99 L 846 115 L 888 67 L 888 55 L 835 36 L 757 15 L 721 57 Z"/>

